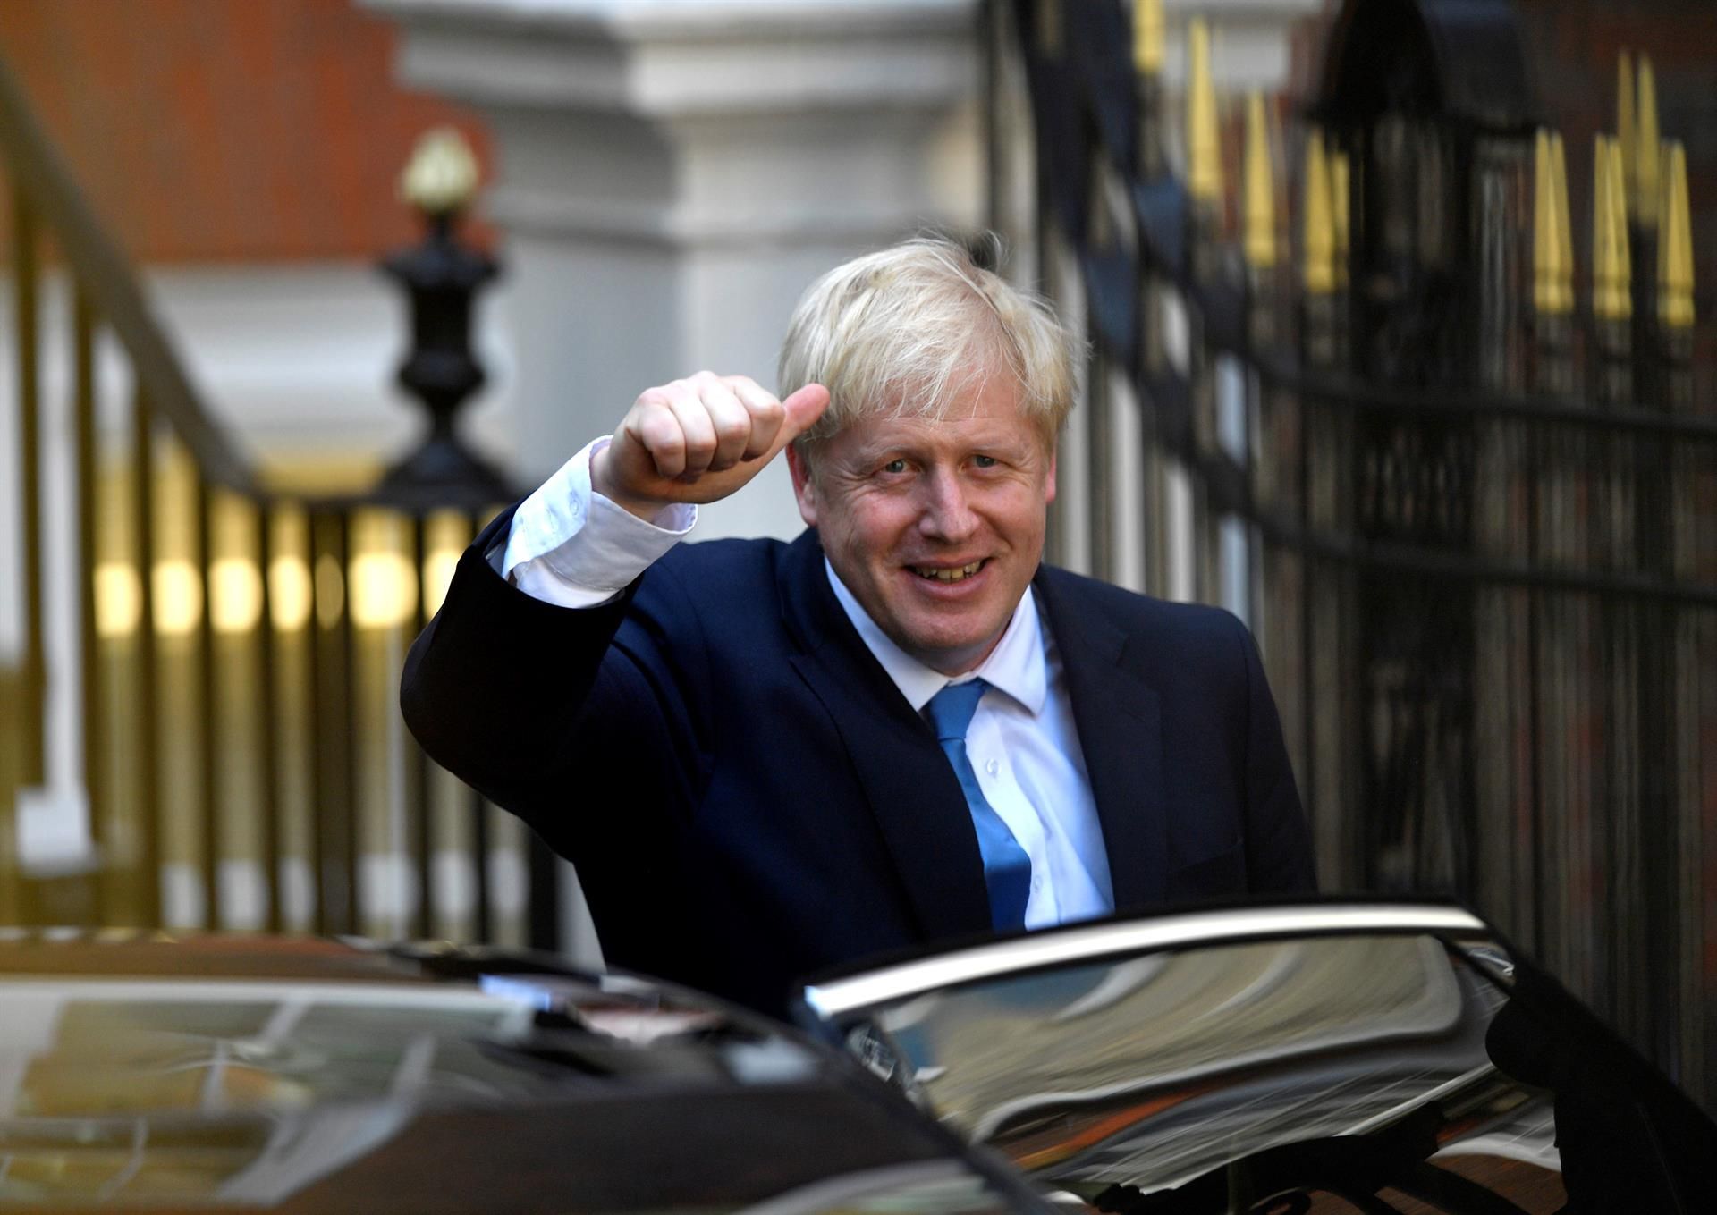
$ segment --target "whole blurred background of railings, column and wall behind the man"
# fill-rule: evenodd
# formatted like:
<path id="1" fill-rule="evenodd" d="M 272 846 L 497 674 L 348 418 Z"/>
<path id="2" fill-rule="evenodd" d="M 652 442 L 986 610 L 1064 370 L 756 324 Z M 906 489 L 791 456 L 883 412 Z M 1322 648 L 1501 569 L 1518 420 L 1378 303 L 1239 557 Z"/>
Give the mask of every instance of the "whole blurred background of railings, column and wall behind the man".
<path id="1" fill-rule="evenodd" d="M 1332 891 L 1717 1100 L 1708 0 L 7 0 L 0 925 L 594 959 L 429 765 L 458 551 L 925 228 L 1090 342 L 1056 561 L 1259 637 Z M 702 535 L 798 530 L 773 468 Z"/>

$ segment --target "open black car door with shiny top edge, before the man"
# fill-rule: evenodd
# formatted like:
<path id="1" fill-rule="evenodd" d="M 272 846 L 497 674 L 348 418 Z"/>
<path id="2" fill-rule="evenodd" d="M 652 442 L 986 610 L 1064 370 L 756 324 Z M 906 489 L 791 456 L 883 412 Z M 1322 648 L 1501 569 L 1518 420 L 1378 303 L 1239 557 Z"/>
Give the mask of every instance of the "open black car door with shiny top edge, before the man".
<path id="1" fill-rule="evenodd" d="M 822 976 L 800 1014 L 1116 1215 L 1717 1206 L 1717 1126 L 1458 906 L 1075 925 Z"/>

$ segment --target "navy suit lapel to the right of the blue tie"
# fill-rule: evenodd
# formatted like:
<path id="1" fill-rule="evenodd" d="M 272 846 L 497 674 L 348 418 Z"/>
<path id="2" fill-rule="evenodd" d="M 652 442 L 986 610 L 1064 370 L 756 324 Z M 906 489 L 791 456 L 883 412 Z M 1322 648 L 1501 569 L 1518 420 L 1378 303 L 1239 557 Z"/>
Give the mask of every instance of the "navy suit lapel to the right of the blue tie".
<path id="1" fill-rule="evenodd" d="M 1097 801 L 1116 910 L 1168 891 L 1162 726 L 1157 693 L 1128 662 L 1128 637 L 1080 604 L 1071 575 L 1042 568 L 1034 583 L 1061 650 L 1073 722 Z"/>

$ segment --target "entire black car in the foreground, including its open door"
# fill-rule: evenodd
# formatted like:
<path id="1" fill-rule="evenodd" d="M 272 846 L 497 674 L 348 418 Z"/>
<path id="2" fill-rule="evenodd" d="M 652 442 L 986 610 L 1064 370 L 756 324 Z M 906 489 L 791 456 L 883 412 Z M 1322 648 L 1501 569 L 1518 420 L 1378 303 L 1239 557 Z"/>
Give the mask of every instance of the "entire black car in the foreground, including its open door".
<path id="1" fill-rule="evenodd" d="M 1717 1127 L 1477 916 L 1118 918 L 790 1030 L 453 947 L 0 937 L 0 1212 L 1691 1212 Z"/>

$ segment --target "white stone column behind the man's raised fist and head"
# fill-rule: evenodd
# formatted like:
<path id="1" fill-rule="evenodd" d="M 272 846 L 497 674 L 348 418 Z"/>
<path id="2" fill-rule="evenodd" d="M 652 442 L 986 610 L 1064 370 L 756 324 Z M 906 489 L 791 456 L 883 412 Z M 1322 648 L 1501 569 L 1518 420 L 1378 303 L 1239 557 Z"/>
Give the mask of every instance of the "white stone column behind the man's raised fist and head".
<path id="1" fill-rule="evenodd" d="M 980 216 L 974 0 L 364 0 L 400 79 L 477 110 L 498 172 L 519 472 L 651 384 L 774 383 L 798 293 Z M 800 530 L 785 467 L 699 535 Z"/>

